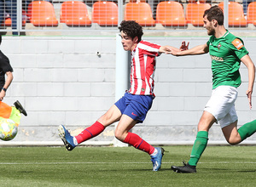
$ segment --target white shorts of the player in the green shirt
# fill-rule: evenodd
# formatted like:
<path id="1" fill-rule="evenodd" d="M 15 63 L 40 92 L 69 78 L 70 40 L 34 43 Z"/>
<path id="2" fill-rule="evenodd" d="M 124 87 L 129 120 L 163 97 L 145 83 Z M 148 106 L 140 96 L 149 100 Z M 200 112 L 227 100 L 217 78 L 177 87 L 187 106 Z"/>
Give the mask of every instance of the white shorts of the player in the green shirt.
<path id="1" fill-rule="evenodd" d="M 229 126 L 238 119 L 235 108 L 237 94 L 237 88 L 230 86 L 219 86 L 212 90 L 212 96 L 204 111 L 210 112 L 221 128 Z"/>

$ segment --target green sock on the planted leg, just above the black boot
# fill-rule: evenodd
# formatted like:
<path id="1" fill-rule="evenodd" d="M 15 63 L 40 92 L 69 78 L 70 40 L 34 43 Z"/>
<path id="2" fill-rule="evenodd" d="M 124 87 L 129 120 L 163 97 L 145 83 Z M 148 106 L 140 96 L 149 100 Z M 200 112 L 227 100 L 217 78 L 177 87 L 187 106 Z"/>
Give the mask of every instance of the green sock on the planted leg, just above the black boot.
<path id="1" fill-rule="evenodd" d="M 201 154 L 207 147 L 207 141 L 208 141 L 208 132 L 199 131 L 196 135 L 195 143 L 191 151 L 191 156 L 189 160 L 190 166 L 196 166 L 197 162 L 201 157 Z"/>

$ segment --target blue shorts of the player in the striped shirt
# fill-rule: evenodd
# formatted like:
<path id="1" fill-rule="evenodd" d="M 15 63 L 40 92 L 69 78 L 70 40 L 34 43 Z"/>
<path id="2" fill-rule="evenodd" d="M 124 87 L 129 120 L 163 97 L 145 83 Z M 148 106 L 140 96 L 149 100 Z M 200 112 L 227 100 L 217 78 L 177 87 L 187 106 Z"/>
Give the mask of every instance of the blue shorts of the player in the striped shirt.
<path id="1" fill-rule="evenodd" d="M 152 106 L 154 96 L 125 93 L 114 105 L 122 114 L 130 116 L 137 123 L 143 122 Z"/>

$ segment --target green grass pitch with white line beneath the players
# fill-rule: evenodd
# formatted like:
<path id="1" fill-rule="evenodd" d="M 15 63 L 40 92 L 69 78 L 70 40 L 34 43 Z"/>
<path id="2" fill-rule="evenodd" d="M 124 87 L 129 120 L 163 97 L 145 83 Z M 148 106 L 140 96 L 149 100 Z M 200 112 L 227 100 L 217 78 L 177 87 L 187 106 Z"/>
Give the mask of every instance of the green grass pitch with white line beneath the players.
<path id="1" fill-rule="evenodd" d="M 1 186 L 255 186 L 255 146 L 209 146 L 197 173 L 174 173 L 192 146 L 164 146 L 161 170 L 133 147 L 1 147 Z"/>

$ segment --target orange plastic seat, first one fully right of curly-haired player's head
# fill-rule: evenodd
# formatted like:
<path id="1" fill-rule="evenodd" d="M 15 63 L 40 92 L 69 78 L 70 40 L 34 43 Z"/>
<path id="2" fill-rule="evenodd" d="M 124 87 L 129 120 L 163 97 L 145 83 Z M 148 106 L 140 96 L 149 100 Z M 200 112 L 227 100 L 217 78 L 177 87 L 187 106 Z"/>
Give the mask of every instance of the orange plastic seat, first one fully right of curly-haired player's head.
<path id="1" fill-rule="evenodd" d="M 183 6 L 178 2 L 160 2 L 156 8 L 156 20 L 163 26 L 187 26 Z"/>

